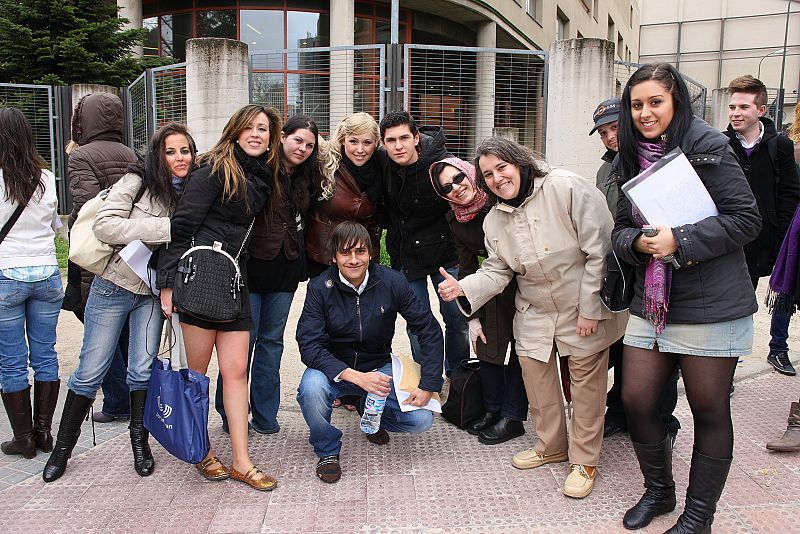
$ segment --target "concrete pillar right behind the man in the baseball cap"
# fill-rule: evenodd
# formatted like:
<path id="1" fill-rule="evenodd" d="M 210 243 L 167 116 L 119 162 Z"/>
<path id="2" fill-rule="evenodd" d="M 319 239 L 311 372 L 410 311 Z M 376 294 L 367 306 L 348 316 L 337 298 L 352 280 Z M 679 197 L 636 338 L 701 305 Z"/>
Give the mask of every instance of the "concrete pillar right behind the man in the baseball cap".
<path id="1" fill-rule="evenodd" d="M 613 96 L 614 43 L 567 39 L 550 46 L 547 83 L 547 141 L 551 165 L 594 181 L 603 143 L 592 129 L 592 112 Z"/>

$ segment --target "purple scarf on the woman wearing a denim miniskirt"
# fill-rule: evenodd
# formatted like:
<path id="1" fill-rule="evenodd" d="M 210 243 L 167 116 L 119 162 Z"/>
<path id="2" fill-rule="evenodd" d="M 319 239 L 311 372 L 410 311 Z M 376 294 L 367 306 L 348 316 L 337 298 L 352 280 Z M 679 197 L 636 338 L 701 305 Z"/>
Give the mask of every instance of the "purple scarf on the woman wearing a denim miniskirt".
<path id="1" fill-rule="evenodd" d="M 667 144 L 663 141 L 648 143 L 639 141 L 637 155 L 642 171 L 648 169 L 666 152 Z M 642 308 L 644 317 L 655 327 L 656 334 L 664 331 L 667 325 L 667 309 L 669 308 L 669 290 L 672 286 L 672 265 L 651 258 L 644 275 L 644 300 Z"/>

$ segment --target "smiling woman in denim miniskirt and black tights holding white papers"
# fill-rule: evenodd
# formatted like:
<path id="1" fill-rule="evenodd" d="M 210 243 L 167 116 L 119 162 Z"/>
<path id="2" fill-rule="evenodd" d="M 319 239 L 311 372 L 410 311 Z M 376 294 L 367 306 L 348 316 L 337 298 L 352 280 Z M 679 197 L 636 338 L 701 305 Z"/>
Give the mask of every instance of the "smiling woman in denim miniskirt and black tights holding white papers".
<path id="1" fill-rule="evenodd" d="M 731 465 L 728 392 L 738 357 L 751 352 L 758 308 L 742 246 L 758 235 L 761 220 L 727 141 L 692 116 L 689 91 L 671 65 L 644 65 L 625 86 L 618 181 L 631 180 L 680 148 L 718 211 L 692 224 L 648 221 L 656 229 L 643 230 L 646 214 L 626 196 L 618 206 L 614 251 L 636 266 L 622 396 L 645 479 L 644 496 L 623 519 L 629 529 L 675 508 L 672 443 L 658 415 L 661 390 L 675 365 L 682 370 L 695 441 L 686 506 L 670 533 L 711 531 Z"/>

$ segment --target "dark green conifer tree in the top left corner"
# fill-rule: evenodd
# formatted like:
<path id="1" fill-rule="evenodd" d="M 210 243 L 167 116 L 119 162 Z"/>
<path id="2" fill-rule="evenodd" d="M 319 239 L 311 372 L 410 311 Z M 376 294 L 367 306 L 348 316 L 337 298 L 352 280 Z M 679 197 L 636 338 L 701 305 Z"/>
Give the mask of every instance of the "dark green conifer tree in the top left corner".
<path id="1" fill-rule="evenodd" d="M 131 56 L 145 30 L 123 30 L 113 0 L 0 1 L 0 82 L 130 83 L 170 58 Z"/>

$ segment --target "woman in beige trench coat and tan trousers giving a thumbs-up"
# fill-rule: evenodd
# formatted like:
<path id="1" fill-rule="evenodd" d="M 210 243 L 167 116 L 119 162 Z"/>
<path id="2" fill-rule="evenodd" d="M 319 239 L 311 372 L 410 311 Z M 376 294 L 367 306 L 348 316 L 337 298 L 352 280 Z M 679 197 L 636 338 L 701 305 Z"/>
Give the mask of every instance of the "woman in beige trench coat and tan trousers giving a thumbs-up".
<path id="1" fill-rule="evenodd" d="M 536 160 L 513 141 L 493 137 L 477 149 L 478 183 L 495 206 L 484 232 L 489 257 L 475 274 L 439 285 L 462 311 L 480 308 L 516 277 L 514 338 L 536 428 L 533 448 L 514 467 L 531 469 L 569 460 L 565 495 L 589 495 L 603 442 L 608 347 L 627 314 L 600 301 L 613 221 L 589 180 Z M 574 411 L 567 440 L 556 351 L 567 356 Z"/>

